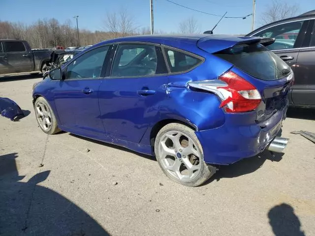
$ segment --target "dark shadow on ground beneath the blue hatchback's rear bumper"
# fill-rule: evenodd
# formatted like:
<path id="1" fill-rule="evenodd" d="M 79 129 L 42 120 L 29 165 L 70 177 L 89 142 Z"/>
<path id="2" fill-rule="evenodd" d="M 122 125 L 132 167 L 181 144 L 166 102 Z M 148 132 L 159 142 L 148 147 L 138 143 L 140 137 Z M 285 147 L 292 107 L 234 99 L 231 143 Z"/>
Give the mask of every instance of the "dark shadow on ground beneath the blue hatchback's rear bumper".
<path id="1" fill-rule="evenodd" d="M 270 151 L 264 150 L 256 156 L 245 158 L 234 164 L 226 166 L 216 166 L 219 170 L 213 177 L 208 179 L 202 185 L 211 183 L 215 180 L 219 181 L 221 178 L 234 178 L 251 174 L 258 170 L 265 163 L 266 160 L 279 162 L 282 160 L 283 155 L 284 153 L 274 152 L 272 154 Z"/>

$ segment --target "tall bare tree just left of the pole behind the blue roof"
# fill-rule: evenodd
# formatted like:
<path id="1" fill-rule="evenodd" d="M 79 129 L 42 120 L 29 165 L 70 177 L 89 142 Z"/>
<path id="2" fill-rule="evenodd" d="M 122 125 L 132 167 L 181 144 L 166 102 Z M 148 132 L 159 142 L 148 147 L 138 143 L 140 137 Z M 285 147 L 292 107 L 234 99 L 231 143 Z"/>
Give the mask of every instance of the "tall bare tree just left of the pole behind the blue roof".
<path id="1" fill-rule="evenodd" d="M 136 29 L 133 18 L 127 13 L 126 9 L 122 9 L 118 13 L 107 13 L 105 26 L 115 38 L 131 35 Z"/>

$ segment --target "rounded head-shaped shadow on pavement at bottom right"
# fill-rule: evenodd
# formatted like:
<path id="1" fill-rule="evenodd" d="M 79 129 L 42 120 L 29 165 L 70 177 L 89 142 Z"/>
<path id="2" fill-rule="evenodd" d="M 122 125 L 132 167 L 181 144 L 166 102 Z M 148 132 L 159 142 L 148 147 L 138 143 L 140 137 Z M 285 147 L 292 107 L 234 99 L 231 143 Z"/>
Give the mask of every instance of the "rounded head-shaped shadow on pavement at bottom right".
<path id="1" fill-rule="evenodd" d="M 286 203 L 272 207 L 268 218 L 275 236 L 305 236 L 299 217 L 295 215 L 293 207 Z"/>

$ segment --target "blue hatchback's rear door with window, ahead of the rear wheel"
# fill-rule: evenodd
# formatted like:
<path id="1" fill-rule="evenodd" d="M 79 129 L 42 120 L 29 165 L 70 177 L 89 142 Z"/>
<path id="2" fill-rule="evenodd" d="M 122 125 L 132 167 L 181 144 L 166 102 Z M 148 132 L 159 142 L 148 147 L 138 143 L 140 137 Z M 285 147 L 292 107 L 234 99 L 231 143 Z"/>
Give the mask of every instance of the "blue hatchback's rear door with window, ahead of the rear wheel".
<path id="1" fill-rule="evenodd" d="M 112 57 L 114 52 L 112 52 Z M 109 77 L 99 89 L 105 135 L 139 143 L 167 98 L 167 68 L 159 45 L 118 45 Z"/>

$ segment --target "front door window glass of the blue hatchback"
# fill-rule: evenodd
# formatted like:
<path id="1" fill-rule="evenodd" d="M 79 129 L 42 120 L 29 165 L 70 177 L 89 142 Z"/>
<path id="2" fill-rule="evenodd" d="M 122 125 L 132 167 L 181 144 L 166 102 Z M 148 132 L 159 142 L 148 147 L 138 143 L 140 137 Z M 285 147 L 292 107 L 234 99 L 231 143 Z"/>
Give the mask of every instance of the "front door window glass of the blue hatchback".
<path id="1" fill-rule="evenodd" d="M 66 69 L 65 79 L 99 78 L 109 46 L 95 48 L 73 60 Z"/>

